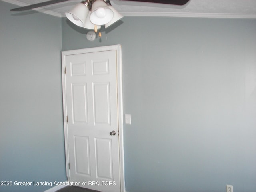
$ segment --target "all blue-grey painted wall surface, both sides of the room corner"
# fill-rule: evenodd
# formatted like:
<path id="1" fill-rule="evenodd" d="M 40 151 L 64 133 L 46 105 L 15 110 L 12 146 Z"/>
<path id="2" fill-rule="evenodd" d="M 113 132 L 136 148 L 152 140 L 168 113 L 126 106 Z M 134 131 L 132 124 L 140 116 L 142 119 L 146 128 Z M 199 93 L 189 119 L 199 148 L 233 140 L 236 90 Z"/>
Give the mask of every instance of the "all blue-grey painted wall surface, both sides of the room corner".
<path id="1" fill-rule="evenodd" d="M 14 7 L 0 1 L 0 181 L 66 180 L 60 50 L 121 44 L 126 190 L 255 191 L 256 20 L 125 17 L 89 42 Z"/>

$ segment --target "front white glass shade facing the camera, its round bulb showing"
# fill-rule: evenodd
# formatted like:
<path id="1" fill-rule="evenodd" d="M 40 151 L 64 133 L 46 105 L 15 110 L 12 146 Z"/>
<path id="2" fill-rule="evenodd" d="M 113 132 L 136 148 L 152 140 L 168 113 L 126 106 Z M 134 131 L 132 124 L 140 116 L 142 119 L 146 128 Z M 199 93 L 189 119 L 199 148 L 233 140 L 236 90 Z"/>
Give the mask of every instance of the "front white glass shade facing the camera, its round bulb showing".
<path id="1" fill-rule="evenodd" d="M 92 4 L 92 13 L 90 21 L 94 25 L 104 25 L 109 23 L 114 16 L 113 11 L 108 8 L 107 4 L 102 0 L 96 0 Z"/>

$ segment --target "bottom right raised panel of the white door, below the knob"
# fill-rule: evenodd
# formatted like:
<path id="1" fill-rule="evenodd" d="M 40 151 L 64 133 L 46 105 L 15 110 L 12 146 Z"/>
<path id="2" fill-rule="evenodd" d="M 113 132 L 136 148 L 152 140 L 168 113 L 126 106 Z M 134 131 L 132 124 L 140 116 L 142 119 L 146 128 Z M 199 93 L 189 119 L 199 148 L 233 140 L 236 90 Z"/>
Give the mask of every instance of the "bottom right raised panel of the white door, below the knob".
<path id="1" fill-rule="evenodd" d="M 112 143 L 110 139 L 95 138 L 97 178 L 113 179 Z"/>

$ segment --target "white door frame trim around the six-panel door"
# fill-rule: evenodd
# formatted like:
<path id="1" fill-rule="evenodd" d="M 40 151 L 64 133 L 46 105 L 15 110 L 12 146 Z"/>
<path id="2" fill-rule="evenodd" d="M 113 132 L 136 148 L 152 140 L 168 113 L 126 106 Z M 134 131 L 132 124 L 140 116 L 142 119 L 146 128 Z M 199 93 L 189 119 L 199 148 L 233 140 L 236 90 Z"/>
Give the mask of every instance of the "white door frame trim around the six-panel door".
<path id="1" fill-rule="evenodd" d="M 125 192 L 124 183 L 124 145 L 123 145 L 123 92 L 122 92 L 122 53 L 121 45 L 102 46 L 94 48 L 84 48 L 77 50 L 62 51 L 62 92 L 63 92 L 63 115 L 64 115 L 64 136 L 65 136 L 65 154 L 66 154 L 66 176 L 70 178 L 69 172 L 69 154 L 68 154 L 68 123 L 66 121 L 66 76 L 65 76 L 65 56 L 72 54 L 82 54 L 101 51 L 116 51 L 116 72 L 117 72 L 117 98 L 118 98 L 118 126 L 119 126 L 119 162 L 120 162 L 120 186 L 121 191 Z"/>

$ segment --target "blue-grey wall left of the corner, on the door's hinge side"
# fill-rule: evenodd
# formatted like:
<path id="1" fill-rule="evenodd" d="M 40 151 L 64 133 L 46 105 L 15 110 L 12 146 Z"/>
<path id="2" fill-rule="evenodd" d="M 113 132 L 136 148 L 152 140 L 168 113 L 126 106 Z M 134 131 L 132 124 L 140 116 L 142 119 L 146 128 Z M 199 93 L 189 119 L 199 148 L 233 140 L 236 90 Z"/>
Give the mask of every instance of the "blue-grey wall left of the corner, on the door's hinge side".
<path id="1" fill-rule="evenodd" d="M 0 181 L 63 182 L 61 19 L 15 7 L 0 1 Z"/>

